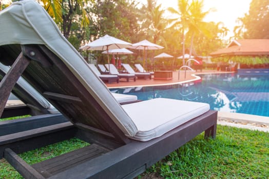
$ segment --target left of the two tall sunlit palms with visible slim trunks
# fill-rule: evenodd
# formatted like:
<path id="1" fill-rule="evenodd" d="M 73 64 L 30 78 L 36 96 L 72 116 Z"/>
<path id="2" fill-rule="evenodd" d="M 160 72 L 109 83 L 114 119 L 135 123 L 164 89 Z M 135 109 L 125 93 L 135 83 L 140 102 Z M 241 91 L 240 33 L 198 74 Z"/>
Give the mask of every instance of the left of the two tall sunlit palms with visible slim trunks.
<path id="1" fill-rule="evenodd" d="M 187 27 L 188 19 L 190 17 L 189 14 L 189 2 L 188 0 L 178 0 L 178 11 L 174 8 L 168 8 L 168 11 L 170 11 L 172 14 L 177 14 L 179 17 L 170 19 L 172 23 L 174 23 L 172 26 L 180 26 L 182 31 L 182 54 L 183 54 L 183 65 L 185 65 L 185 29 Z"/>

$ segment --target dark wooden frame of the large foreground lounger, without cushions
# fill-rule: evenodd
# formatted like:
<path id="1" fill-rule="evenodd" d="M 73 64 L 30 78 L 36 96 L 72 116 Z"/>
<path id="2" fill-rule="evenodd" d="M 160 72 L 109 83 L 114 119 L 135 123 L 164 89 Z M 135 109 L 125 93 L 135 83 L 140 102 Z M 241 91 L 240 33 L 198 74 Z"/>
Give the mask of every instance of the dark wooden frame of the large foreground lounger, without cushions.
<path id="1" fill-rule="evenodd" d="M 19 53 L 12 49 L 9 46 L 0 49 L 0 60 L 6 63 L 13 63 L 12 58 L 5 55 L 10 54 L 10 50 L 18 55 L 10 71 L 0 83 L 0 116 L 13 86 L 23 74 L 31 85 L 72 122 L 67 122 L 63 115 L 57 114 L 34 116 L 18 120 L 18 123 L 15 121 L 0 123 L 6 129 L 0 136 L 0 159 L 5 158 L 25 178 L 132 178 L 203 131 L 205 131 L 205 138 L 216 136 L 217 111 L 208 111 L 148 142 L 128 139 L 99 103 L 85 92 L 86 89 L 70 73 L 65 64 L 45 46 L 22 45 L 22 52 Z M 34 76 L 36 69 L 40 73 L 39 76 Z M 57 86 L 57 83 L 54 84 L 53 80 L 57 79 L 51 79 L 50 76 L 54 71 L 60 73 L 57 75 L 59 79 L 65 80 L 65 83 L 72 82 L 68 89 L 65 84 L 61 84 L 62 88 L 60 85 Z M 43 75 L 47 78 L 40 78 Z M 39 83 L 44 83 L 43 86 L 35 80 L 41 80 Z M 52 83 L 54 85 L 51 85 Z M 68 95 L 78 88 L 80 93 L 78 92 L 76 96 Z M 80 108 L 74 108 L 72 103 Z M 73 119 L 69 114 L 76 115 L 76 110 L 82 110 L 85 116 L 90 116 L 92 120 L 87 121 L 83 115 L 78 116 L 80 120 Z M 73 137 L 90 143 L 90 147 L 32 166 L 17 155 Z M 87 159 L 86 156 L 83 158 L 79 155 L 81 152 L 87 153 Z M 71 160 L 70 156 L 78 157 Z M 68 163 L 70 165 L 65 165 L 68 159 L 71 160 Z M 52 169 L 51 166 L 55 168 Z"/>

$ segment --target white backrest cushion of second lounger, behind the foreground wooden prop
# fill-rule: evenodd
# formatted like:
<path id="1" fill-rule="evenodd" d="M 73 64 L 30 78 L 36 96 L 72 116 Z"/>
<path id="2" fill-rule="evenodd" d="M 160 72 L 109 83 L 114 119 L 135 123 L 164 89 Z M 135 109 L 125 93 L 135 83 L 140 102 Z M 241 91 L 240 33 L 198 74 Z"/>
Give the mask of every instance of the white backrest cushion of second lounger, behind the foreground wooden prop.
<path id="1" fill-rule="evenodd" d="M 8 73 L 9 66 L 0 63 L 0 79 Z M 1 80 L 0 80 L 1 81 Z M 37 92 L 25 79 L 20 77 L 14 86 L 12 93 L 25 104 L 33 105 L 37 113 L 59 113 L 39 92 Z"/>

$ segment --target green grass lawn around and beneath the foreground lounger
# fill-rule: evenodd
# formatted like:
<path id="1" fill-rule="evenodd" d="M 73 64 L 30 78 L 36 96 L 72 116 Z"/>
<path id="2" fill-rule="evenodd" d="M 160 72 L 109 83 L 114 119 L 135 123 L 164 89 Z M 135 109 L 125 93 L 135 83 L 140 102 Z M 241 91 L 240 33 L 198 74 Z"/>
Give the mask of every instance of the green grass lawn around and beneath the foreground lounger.
<path id="1" fill-rule="evenodd" d="M 89 145 L 78 139 L 20 154 L 29 164 Z M 23 178 L 4 159 L 0 178 Z M 216 139 L 197 136 L 137 178 L 268 178 L 269 133 L 218 125 Z"/>

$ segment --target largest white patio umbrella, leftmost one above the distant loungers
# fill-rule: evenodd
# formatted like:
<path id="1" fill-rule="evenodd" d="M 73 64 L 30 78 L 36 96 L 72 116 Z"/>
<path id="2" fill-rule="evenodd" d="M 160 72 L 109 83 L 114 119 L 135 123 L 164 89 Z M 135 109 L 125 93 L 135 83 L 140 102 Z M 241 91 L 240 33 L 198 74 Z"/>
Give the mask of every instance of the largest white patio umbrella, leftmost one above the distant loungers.
<path id="1" fill-rule="evenodd" d="M 131 47 L 131 43 L 127 42 L 127 41 L 123 41 L 120 40 L 118 38 L 109 36 L 109 35 L 105 35 L 103 37 L 100 37 L 97 40 L 94 40 L 92 42 L 89 42 L 88 44 L 86 44 L 85 46 L 82 46 L 81 48 L 83 48 L 84 50 L 106 50 L 107 51 L 107 62 L 109 64 L 109 54 L 108 54 L 108 50 L 111 49 L 122 49 L 122 48 L 126 48 L 126 47 Z"/>

